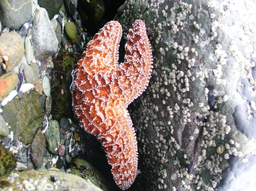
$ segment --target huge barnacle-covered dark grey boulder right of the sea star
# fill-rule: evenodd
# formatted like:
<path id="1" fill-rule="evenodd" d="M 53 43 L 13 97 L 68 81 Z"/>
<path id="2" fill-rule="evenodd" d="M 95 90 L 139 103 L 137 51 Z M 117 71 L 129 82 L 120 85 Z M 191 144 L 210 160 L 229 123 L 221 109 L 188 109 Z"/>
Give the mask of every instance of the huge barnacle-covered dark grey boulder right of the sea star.
<path id="1" fill-rule="evenodd" d="M 130 190 L 253 190 L 255 7 L 126 1 L 123 37 L 144 20 L 154 58 L 149 86 L 130 106 L 142 171 Z"/>

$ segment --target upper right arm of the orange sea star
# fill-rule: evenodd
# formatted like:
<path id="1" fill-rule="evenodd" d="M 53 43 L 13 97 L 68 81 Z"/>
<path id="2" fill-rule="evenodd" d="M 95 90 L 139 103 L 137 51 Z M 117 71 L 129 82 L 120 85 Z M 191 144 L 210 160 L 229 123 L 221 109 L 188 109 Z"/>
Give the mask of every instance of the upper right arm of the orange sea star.
<path id="1" fill-rule="evenodd" d="M 147 88 L 153 68 L 152 51 L 145 23 L 136 20 L 129 31 L 125 44 L 125 60 L 119 65 L 121 77 L 118 81 L 122 84 L 120 88 L 125 98 L 128 98 L 127 105 Z"/>

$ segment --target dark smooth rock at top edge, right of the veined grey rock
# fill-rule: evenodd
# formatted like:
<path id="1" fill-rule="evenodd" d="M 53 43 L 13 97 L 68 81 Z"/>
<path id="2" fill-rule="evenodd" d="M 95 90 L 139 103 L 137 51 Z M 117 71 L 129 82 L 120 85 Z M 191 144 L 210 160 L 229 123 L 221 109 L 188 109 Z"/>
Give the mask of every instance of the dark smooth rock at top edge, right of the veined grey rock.
<path id="1" fill-rule="evenodd" d="M 60 10 L 63 0 L 38 0 L 38 4 L 47 10 L 49 18 L 52 19 Z"/>

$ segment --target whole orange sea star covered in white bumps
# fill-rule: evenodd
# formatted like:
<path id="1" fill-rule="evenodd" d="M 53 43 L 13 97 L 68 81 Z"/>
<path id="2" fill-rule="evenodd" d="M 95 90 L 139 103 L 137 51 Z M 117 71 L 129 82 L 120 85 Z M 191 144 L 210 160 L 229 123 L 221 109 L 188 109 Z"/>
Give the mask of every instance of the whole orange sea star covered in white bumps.
<path id="1" fill-rule="evenodd" d="M 106 152 L 116 184 L 130 187 L 137 175 L 138 152 L 127 106 L 148 86 L 152 52 L 145 24 L 136 20 L 118 65 L 122 27 L 108 22 L 88 43 L 74 72 L 73 108 L 80 126 L 96 135 Z"/>

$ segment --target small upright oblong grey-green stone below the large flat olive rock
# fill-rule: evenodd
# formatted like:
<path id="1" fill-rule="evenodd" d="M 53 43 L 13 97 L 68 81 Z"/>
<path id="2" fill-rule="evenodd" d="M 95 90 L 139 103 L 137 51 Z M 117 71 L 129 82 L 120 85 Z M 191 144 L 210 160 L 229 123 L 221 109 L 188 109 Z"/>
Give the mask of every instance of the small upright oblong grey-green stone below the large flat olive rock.
<path id="1" fill-rule="evenodd" d="M 56 120 L 49 120 L 48 121 L 48 128 L 44 133 L 45 140 L 47 143 L 47 148 L 52 153 L 55 153 L 55 149 L 60 148 L 60 125 Z"/>

